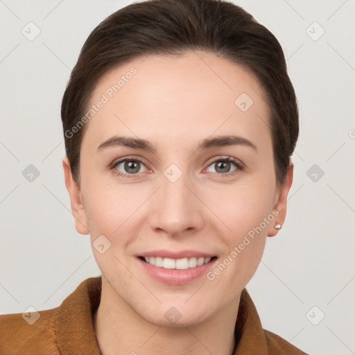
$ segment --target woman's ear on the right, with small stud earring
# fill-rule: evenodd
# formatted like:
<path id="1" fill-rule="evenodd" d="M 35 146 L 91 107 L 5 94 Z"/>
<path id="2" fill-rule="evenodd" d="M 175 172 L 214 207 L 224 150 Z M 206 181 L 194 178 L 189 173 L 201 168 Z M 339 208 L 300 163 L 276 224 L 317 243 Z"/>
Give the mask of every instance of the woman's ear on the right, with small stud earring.
<path id="1" fill-rule="evenodd" d="M 284 184 L 277 191 L 275 206 L 273 210 L 278 211 L 279 214 L 275 217 L 275 221 L 268 225 L 268 236 L 275 236 L 279 230 L 275 228 L 275 225 L 284 225 L 284 221 L 286 218 L 286 207 L 287 207 L 287 196 L 288 192 L 291 189 L 291 185 L 293 182 L 293 164 L 290 163 L 288 166 L 288 171 L 285 177 Z"/>

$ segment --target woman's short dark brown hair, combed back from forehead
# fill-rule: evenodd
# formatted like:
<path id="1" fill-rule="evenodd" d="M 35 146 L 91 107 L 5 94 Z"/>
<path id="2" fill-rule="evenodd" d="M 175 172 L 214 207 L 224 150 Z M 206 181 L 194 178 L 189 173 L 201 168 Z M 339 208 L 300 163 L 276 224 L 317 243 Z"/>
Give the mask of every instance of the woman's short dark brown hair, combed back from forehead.
<path id="1" fill-rule="evenodd" d="M 275 174 L 280 185 L 299 133 L 297 98 L 282 46 L 250 13 L 227 1 L 148 0 L 114 12 L 90 33 L 62 99 L 62 124 L 71 173 L 80 183 L 85 126 L 67 135 L 85 115 L 98 80 L 110 69 L 149 54 L 202 50 L 252 71 L 266 92 Z"/>

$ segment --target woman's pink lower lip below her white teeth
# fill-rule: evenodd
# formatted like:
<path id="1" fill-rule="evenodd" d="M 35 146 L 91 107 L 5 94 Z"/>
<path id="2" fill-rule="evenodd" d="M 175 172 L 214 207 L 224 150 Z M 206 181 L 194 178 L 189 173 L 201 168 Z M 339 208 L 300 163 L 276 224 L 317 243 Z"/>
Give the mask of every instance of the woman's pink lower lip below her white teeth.
<path id="1" fill-rule="evenodd" d="M 137 259 L 150 276 L 153 276 L 155 279 L 159 280 L 159 282 L 164 282 L 164 284 L 169 285 L 184 285 L 206 275 L 208 270 L 214 266 L 214 263 L 216 263 L 217 260 L 217 258 L 213 259 L 209 261 L 209 263 L 196 266 L 195 268 L 178 270 L 159 268 L 158 266 L 146 263 L 146 261 L 139 258 Z"/>

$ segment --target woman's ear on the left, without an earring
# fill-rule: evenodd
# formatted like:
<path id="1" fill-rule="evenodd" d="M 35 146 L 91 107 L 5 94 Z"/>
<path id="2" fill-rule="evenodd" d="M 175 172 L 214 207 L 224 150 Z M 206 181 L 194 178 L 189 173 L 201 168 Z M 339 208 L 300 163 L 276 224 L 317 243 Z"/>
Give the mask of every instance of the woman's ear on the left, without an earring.
<path id="1" fill-rule="evenodd" d="M 69 192 L 71 211 L 75 221 L 75 227 L 80 234 L 89 234 L 87 227 L 87 216 L 83 203 L 80 198 L 80 187 L 76 184 L 71 174 L 71 167 L 67 155 L 64 156 L 63 161 L 65 186 Z"/>

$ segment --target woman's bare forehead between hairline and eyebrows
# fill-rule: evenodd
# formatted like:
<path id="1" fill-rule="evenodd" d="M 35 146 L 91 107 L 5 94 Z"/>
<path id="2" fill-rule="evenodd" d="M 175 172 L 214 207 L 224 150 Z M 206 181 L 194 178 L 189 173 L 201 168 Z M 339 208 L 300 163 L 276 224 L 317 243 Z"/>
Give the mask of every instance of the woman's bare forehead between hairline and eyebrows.
<path id="1" fill-rule="evenodd" d="M 263 89 L 248 69 L 202 51 L 121 64 L 99 80 L 89 107 L 100 101 L 85 133 L 96 146 L 114 130 L 152 140 L 168 132 L 212 135 L 236 124 L 242 132 L 247 125 L 265 130 L 269 115 Z"/>

